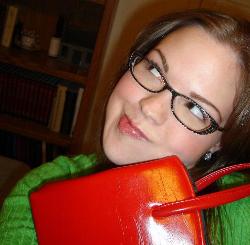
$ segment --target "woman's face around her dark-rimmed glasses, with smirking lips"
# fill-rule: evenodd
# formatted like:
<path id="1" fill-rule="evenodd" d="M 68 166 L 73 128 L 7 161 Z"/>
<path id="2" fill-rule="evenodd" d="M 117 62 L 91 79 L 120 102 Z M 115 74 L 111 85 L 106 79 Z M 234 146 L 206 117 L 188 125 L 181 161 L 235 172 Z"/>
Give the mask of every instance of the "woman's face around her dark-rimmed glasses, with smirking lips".
<path id="1" fill-rule="evenodd" d="M 177 92 L 201 105 L 223 127 L 232 112 L 239 67 L 234 51 L 200 27 L 169 34 L 147 58 Z M 103 147 L 124 165 L 177 155 L 190 168 L 207 151 L 220 148 L 222 133 L 196 134 L 173 115 L 171 93 L 151 93 L 127 71 L 115 87 L 106 112 Z M 220 118 L 221 117 L 221 118 Z"/>

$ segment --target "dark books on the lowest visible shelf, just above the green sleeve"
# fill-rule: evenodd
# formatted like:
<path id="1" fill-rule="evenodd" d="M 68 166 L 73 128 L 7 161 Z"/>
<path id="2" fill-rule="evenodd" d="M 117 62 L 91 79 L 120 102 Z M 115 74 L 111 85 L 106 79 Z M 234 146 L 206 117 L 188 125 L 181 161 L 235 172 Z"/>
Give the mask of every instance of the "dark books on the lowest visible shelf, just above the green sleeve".
<path id="1" fill-rule="evenodd" d="M 65 154 L 64 149 L 26 138 L 14 133 L 0 131 L 0 155 L 27 163 L 31 168 Z"/>

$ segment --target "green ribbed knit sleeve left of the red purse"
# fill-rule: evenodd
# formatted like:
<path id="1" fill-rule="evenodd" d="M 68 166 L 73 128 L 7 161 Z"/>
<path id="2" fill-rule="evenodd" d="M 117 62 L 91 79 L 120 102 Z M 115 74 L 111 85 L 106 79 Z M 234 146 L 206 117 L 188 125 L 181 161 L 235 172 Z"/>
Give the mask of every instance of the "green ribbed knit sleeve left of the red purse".
<path id="1" fill-rule="evenodd" d="M 61 156 L 30 171 L 18 182 L 3 204 L 0 213 L 0 244 L 37 244 L 29 194 L 47 182 L 83 175 L 94 165 L 95 155 L 73 158 Z"/>

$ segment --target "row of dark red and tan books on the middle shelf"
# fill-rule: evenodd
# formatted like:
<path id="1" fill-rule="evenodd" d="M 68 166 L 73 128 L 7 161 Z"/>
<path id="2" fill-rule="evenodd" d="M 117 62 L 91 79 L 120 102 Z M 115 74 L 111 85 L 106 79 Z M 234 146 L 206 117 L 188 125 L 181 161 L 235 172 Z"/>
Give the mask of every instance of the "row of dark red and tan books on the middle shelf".
<path id="1" fill-rule="evenodd" d="M 0 113 L 72 135 L 83 87 L 47 74 L 0 63 Z"/>

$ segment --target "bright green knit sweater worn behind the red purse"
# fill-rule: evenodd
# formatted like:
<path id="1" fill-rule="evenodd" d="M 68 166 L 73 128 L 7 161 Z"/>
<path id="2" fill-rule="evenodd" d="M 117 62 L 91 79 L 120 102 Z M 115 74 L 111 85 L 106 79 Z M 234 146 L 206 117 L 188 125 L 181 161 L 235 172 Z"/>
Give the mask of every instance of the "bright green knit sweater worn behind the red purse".
<path id="1" fill-rule="evenodd" d="M 73 158 L 58 157 L 30 171 L 5 200 L 0 213 L 0 244 L 1 245 L 32 245 L 37 244 L 36 233 L 29 204 L 29 194 L 41 185 L 52 181 L 80 176 L 89 172 L 96 165 L 95 155 L 79 155 Z M 239 175 L 227 177 L 225 183 L 231 185 Z M 244 181 L 243 181 L 244 182 Z M 225 240 L 223 245 L 250 244 L 250 198 L 225 205 L 222 222 L 225 224 Z"/>

